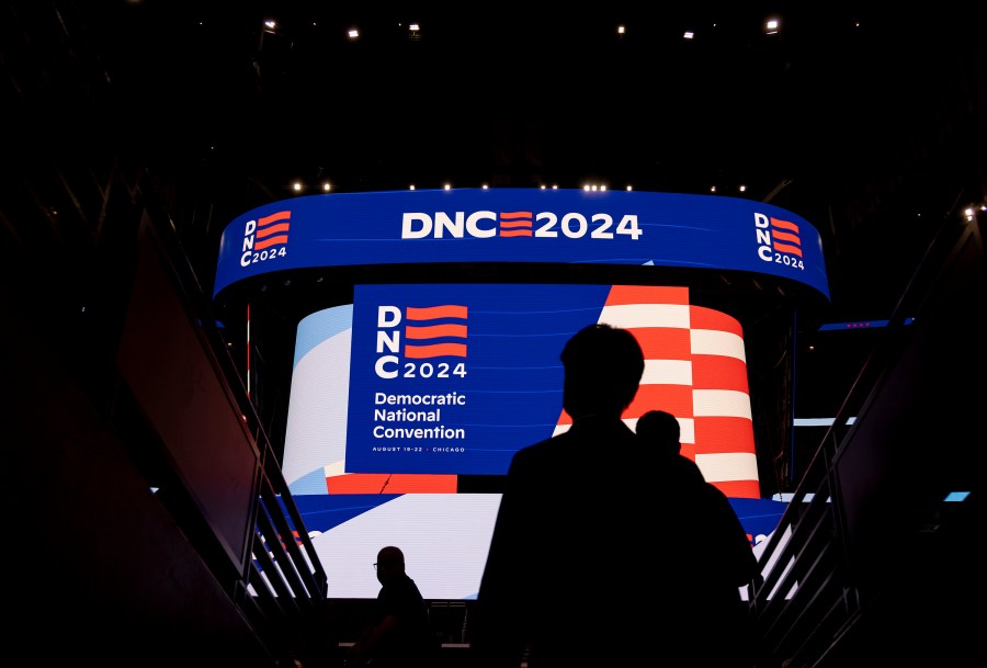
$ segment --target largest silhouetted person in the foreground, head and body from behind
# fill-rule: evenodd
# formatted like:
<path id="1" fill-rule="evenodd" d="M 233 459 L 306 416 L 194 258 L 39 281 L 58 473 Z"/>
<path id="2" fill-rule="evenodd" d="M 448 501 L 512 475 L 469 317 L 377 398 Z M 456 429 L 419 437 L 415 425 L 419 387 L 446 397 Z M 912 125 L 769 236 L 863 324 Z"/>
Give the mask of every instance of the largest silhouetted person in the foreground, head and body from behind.
<path id="1" fill-rule="evenodd" d="M 708 631 L 706 589 L 739 578 L 719 552 L 737 536 L 713 535 L 705 483 L 623 422 L 640 346 L 592 325 L 561 362 L 572 426 L 511 461 L 473 615 L 475 665 L 518 668 L 526 652 L 530 668 L 723 666 L 726 653 L 710 649 L 736 641 Z"/>

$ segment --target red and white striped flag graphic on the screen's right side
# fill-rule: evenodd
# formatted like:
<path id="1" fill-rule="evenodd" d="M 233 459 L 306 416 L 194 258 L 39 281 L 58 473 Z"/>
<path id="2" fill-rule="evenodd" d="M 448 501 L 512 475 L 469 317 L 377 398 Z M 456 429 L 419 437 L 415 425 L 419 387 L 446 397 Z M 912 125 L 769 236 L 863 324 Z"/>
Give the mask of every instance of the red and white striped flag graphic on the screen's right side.
<path id="1" fill-rule="evenodd" d="M 682 454 L 728 497 L 760 498 L 744 332 L 733 317 L 689 303 L 688 287 L 614 285 L 599 318 L 631 330 L 645 353 L 640 389 L 624 412 L 674 415 Z M 563 411 L 556 433 L 569 428 Z"/>

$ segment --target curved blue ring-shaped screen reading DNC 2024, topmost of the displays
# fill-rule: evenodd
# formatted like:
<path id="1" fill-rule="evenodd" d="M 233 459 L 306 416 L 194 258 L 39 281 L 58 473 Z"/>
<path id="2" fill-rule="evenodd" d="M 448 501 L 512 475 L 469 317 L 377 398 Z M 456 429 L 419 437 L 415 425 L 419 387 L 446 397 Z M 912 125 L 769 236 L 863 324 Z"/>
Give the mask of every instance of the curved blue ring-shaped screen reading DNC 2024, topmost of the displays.
<path id="1" fill-rule="evenodd" d="M 829 299 L 819 233 L 771 204 L 511 188 L 340 193 L 265 204 L 224 229 L 213 296 L 271 272 L 450 262 L 742 271 L 794 281 Z"/>

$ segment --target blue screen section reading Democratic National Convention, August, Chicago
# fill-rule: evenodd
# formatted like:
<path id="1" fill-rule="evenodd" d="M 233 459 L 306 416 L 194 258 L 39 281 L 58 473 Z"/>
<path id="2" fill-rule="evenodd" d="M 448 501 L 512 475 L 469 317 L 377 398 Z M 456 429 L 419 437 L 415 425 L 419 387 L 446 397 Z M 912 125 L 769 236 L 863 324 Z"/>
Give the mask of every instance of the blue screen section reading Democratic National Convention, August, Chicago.
<path id="1" fill-rule="evenodd" d="M 608 285 L 358 285 L 347 473 L 504 474 L 551 437 Z M 551 306 L 546 306 L 551 305 Z"/>

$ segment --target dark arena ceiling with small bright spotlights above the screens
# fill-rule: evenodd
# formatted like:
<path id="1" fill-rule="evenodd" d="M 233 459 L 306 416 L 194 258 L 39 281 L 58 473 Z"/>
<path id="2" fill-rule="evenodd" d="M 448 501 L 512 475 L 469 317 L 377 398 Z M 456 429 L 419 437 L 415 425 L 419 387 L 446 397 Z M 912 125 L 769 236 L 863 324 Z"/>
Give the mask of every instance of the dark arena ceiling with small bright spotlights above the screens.
<path id="1" fill-rule="evenodd" d="M 172 223 L 205 294 L 229 222 L 326 183 L 633 188 L 812 223 L 831 303 L 801 315 L 806 341 L 887 318 L 942 226 L 987 192 L 976 3 L 20 1 L 0 24 L 14 248 L 35 234 L 23 212 L 56 199 L 32 170 L 92 171 L 112 151 L 181 200 Z M 295 283 L 277 293 L 288 356 L 313 303 Z M 215 306 L 238 326 L 239 304 Z"/>

